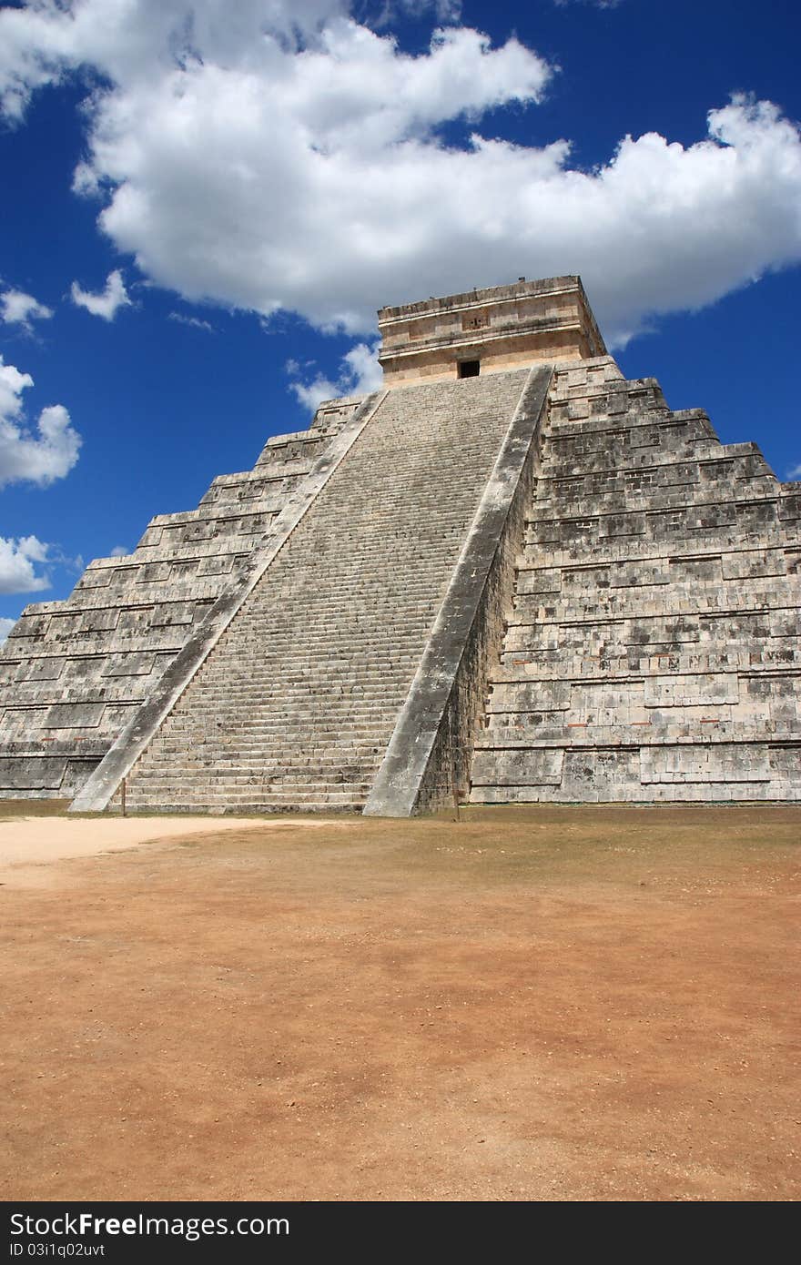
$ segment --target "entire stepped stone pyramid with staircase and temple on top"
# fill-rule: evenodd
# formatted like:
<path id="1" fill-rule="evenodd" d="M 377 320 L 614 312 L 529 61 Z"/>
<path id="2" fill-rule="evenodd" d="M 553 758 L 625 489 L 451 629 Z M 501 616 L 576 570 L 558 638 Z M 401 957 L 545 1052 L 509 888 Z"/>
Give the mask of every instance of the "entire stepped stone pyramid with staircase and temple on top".
<path id="1" fill-rule="evenodd" d="M 801 799 L 801 484 L 626 381 L 577 277 L 378 316 L 382 390 L 25 608 L 0 796 Z"/>

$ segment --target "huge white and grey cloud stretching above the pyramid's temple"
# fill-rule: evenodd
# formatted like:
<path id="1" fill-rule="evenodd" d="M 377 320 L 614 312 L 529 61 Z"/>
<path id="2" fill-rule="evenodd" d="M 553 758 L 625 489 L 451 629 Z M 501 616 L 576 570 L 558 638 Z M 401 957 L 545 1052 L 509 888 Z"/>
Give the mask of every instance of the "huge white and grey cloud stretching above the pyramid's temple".
<path id="1" fill-rule="evenodd" d="M 349 16 L 364 6 L 299 8 L 0 13 L 9 116 L 77 67 L 110 85 L 89 102 L 77 183 L 99 192 L 115 245 L 189 301 L 363 335 L 381 304 L 580 272 L 621 345 L 654 315 L 801 259 L 801 137 L 776 105 L 735 96 L 695 144 L 625 137 L 582 171 L 567 139 L 482 134 L 485 111 L 534 106 L 553 80 L 516 39 L 492 48 L 448 25 L 411 57 Z M 442 135 L 456 119 L 471 120 L 463 147 Z"/>

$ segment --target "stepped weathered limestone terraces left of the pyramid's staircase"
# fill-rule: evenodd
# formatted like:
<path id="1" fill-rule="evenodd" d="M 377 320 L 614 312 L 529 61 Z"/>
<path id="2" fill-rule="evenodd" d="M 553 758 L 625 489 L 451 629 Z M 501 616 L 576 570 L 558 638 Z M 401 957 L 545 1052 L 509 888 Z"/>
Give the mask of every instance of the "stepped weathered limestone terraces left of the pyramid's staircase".
<path id="1" fill-rule="evenodd" d="M 66 601 L 25 607 L 0 648 L 0 798 L 84 784 L 357 406 L 321 405 L 196 510 L 152 519 L 132 554 L 90 563 Z"/>

